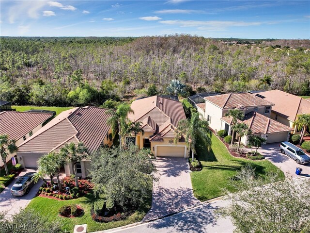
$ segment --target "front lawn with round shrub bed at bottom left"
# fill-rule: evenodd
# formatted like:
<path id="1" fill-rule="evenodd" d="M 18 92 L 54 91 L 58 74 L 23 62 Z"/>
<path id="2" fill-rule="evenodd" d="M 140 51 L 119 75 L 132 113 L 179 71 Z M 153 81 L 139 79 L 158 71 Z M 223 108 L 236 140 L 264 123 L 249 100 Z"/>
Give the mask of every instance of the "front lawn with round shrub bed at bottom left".
<path id="1" fill-rule="evenodd" d="M 147 211 L 151 208 L 152 199 L 149 198 L 144 207 L 138 209 L 132 216 L 122 221 L 114 221 L 109 223 L 99 223 L 93 220 L 91 216 L 91 208 L 93 205 L 93 194 L 87 194 L 84 197 L 74 200 L 54 200 L 42 197 L 36 197 L 31 200 L 27 208 L 33 208 L 38 214 L 47 216 L 48 220 L 60 221 L 64 227 L 63 232 L 73 232 L 74 225 L 87 224 L 87 232 L 103 231 L 115 227 L 124 226 L 142 220 Z M 78 204 L 84 210 L 84 214 L 80 217 L 66 218 L 58 215 L 60 207 L 66 204 Z"/>

